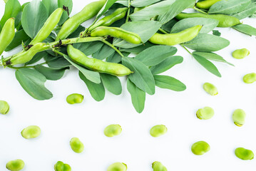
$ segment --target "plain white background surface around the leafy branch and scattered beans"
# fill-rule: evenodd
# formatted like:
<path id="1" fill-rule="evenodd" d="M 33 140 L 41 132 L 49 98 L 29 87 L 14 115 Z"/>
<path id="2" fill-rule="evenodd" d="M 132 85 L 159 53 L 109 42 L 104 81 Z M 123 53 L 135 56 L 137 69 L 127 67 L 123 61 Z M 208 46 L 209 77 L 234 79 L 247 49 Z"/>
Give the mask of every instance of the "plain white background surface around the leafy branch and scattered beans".
<path id="1" fill-rule="evenodd" d="M 73 0 L 71 15 L 91 1 Z M 0 16 L 3 14 L 4 1 L 0 1 Z M 256 27 L 256 19 L 242 21 Z M 91 22 L 86 22 L 85 26 Z M 222 78 L 217 78 L 176 46 L 177 55 L 183 56 L 184 61 L 164 74 L 183 81 L 187 90 L 175 92 L 156 88 L 155 95 L 147 95 L 141 114 L 133 109 L 125 78 L 121 78 L 121 95 L 107 92 L 103 101 L 96 102 L 78 78 L 78 71 L 71 68 L 61 80 L 46 82 L 53 98 L 39 101 L 21 88 L 13 69 L 0 68 L 0 98 L 11 106 L 8 115 L 0 115 L 0 170 L 6 170 L 6 162 L 17 158 L 24 160 L 26 171 L 53 170 L 58 160 L 71 165 L 74 171 L 103 171 L 113 162 L 125 162 L 130 171 L 148 171 L 152 170 L 151 163 L 155 160 L 173 171 L 255 170 L 256 159 L 240 160 L 234 150 L 245 147 L 256 154 L 256 83 L 242 82 L 245 74 L 256 72 L 256 40 L 231 28 L 217 29 L 222 37 L 230 40 L 230 46 L 217 53 L 235 67 L 215 63 L 222 73 Z M 250 56 L 242 60 L 232 58 L 231 53 L 237 48 L 249 49 Z M 4 53 L 4 56 L 10 54 Z M 215 84 L 219 94 L 205 93 L 202 88 L 205 82 Z M 83 94 L 83 103 L 68 105 L 66 96 L 71 93 Z M 195 112 L 205 106 L 212 107 L 215 116 L 199 120 Z M 247 113 L 242 128 L 232 123 L 232 112 L 237 108 Z M 113 123 L 120 124 L 123 132 L 115 138 L 107 138 L 103 130 Z M 166 125 L 168 133 L 152 138 L 149 130 L 157 124 Z M 21 137 L 21 130 L 29 125 L 39 125 L 42 131 L 39 138 Z M 71 150 L 69 140 L 73 137 L 84 143 L 83 153 Z M 193 155 L 190 147 L 198 140 L 208 142 L 210 152 Z"/>

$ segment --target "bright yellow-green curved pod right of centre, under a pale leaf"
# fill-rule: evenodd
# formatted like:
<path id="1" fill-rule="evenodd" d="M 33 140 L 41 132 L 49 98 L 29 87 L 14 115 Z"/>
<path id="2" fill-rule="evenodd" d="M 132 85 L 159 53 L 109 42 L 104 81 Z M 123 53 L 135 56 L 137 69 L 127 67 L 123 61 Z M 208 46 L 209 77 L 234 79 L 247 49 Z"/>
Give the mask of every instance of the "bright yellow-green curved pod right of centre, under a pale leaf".
<path id="1" fill-rule="evenodd" d="M 191 28 L 187 28 L 179 33 L 168 33 L 168 34 L 160 34 L 155 33 L 149 41 L 155 44 L 168 45 L 173 46 L 180 43 L 185 43 L 187 41 L 191 41 L 193 38 L 198 36 L 199 31 L 202 26 L 193 26 Z"/>

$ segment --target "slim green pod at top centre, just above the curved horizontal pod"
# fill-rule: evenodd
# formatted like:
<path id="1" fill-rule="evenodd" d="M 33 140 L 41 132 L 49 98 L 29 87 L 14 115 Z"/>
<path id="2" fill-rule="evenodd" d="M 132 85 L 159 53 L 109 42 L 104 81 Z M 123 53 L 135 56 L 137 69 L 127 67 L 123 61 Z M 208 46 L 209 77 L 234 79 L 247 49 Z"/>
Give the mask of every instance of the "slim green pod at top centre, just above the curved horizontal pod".
<path id="1" fill-rule="evenodd" d="M 111 26 L 114 22 L 123 19 L 126 16 L 126 11 L 128 8 L 116 9 L 111 15 L 105 16 L 103 19 L 99 20 L 96 24 L 93 24 L 88 31 L 92 31 L 98 26 Z"/>

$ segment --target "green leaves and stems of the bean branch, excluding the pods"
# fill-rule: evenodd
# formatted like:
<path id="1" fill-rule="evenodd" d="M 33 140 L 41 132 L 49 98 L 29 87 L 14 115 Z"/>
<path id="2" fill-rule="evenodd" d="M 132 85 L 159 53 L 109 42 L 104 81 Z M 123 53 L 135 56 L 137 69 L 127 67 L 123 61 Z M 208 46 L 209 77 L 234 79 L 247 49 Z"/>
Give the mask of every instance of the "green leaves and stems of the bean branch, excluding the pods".
<path id="1" fill-rule="evenodd" d="M 149 39 L 155 33 L 179 33 L 187 28 L 201 25 L 203 28 L 201 28 L 198 36 L 190 41 L 180 43 L 180 46 L 185 48 L 195 58 L 195 61 L 215 76 L 221 77 L 221 74 L 212 61 L 227 63 L 232 66 L 232 63 L 228 63 L 216 53 L 230 44 L 230 41 L 222 38 L 221 33 L 215 29 L 219 21 L 206 18 L 188 18 L 178 21 L 175 16 L 185 9 L 194 9 L 196 10 L 194 12 L 209 15 L 225 14 L 237 19 L 256 16 L 255 0 L 218 1 L 208 10 L 196 8 L 197 1 L 195 0 L 106 0 L 105 5 L 94 17 L 93 24 L 96 24 L 104 16 L 113 14 L 116 9 L 127 7 L 126 16 L 111 26 L 138 34 L 141 38 L 140 44 L 129 43 L 122 38 L 111 36 L 83 41 L 83 38 L 90 38 L 90 33 L 82 34 L 90 26 L 85 28 L 82 25 L 65 40 L 55 41 L 56 35 L 65 21 L 74 15 L 72 13 L 72 0 L 32 0 L 25 4 L 20 4 L 18 0 L 4 2 L 6 4 L 4 16 L 0 20 L 0 31 L 10 18 L 15 18 L 16 28 L 14 39 L 5 51 L 11 51 L 18 46 L 23 47 L 23 52 L 27 51 L 27 48 L 30 47 L 29 43 L 36 37 L 53 11 L 63 7 L 68 9 L 63 12 L 58 25 L 51 31 L 48 38 L 43 41 L 49 48 L 36 53 L 30 61 L 21 66 L 4 65 L 6 58 L 12 58 L 16 54 L 1 58 L 1 66 L 16 70 L 16 79 L 29 95 L 37 100 L 52 98 L 53 94 L 45 87 L 44 83 L 47 80 L 61 79 L 70 67 L 79 71 L 78 78 L 81 78 L 85 83 L 96 101 L 104 99 L 106 90 L 114 95 L 122 93 L 121 81 L 117 76 L 92 71 L 90 68 L 71 60 L 66 46 L 68 40 L 73 40 L 71 41 L 73 47 L 78 48 L 86 56 L 111 63 L 121 63 L 133 72 L 126 76 L 126 87 L 138 113 L 144 109 L 146 94 L 155 94 L 156 87 L 174 91 L 186 89 L 181 81 L 164 74 L 173 66 L 182 63 L 183 57 L 175 56 L 177 53 L 175 46 L 150 43 Z M 246 24 L 239 24 L 232 26 L 232 28 L 249 36 L 256 36 L 256 28 Z"/>

